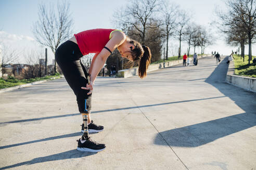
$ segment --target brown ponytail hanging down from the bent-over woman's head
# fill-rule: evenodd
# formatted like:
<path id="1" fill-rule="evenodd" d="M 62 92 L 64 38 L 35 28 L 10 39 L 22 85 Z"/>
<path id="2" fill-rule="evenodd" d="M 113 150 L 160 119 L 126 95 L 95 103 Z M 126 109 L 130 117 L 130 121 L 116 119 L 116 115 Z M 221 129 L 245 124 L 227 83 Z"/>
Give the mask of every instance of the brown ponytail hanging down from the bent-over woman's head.
<path id="1" fill-rule="evenodd" d="M 138 76 L 143 79 L 147 76 L 147 69 L 150 64 L 151 52 L 147 46 L 142 46 L 142 48 L 144 50 L 144 53 L 139 61 Z"/>

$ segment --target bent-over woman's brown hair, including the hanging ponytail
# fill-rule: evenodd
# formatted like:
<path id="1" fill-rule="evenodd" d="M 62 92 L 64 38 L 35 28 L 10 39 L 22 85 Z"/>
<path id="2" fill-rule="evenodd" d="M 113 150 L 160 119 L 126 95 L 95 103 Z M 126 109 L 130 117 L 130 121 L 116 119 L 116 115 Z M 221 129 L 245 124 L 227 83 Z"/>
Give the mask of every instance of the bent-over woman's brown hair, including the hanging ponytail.
<path id="1" fill-rule="evenodd" d="M 130 43 L 134 45 L 131 49 L 133 61 L 139 61 L 138 76 L 144 78 L 147 76 L 147 69 L 150 64 L 151 51 L 147 46 L 142 46 L 138 41 L 130 39 Z"/>

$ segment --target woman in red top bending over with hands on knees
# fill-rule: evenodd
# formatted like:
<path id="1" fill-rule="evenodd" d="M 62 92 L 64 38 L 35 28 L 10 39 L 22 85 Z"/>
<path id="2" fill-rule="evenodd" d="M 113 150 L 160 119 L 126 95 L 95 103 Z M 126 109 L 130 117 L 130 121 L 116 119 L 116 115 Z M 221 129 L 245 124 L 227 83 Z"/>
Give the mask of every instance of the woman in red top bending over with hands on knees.
<path id="1" fill-rule="evenodd" d="M 72 38 L 58 47 L 55 59 L 61 68 L 69 86 L 76 95 L 78 108 L 83 116 L 82 138 L 78 140 L 78 150 L 98 152 L 106 148 L 88 137 L 89 132 L 100 132 L 103 126 L 98 126 L 91 120 L 91 98 L 94 81 L 103 68 L 108 56 L 114 49 L 130 61 L 139 61 L 138 76 L 144 78 L 150 63 L 151 53 L 146 46 L 130 39 L 120 30 L 94 29 L 74 34 Z M 80 62 L 80 58 L 88 53 L 95 53 L 89 72 Z"/>

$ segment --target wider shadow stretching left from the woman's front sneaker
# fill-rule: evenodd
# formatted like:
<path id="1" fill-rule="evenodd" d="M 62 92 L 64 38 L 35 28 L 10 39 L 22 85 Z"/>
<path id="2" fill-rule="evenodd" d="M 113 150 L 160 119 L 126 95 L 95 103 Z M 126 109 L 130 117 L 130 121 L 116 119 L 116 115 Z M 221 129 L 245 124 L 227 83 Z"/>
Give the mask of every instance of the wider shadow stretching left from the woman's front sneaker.
<path id="1" fill-rule="evenodd" d="M 32 159 L 31 161 L 26 161 L 26 162 L 17 163 L 14 165 L 1 167 L 0 169 L 8 169 L 8 168 L 18 167 L 18 166 L 22 166 L 22 165 L 32 165 L 32 164 L 36 164 L 36 163 L 49 162 L 49 161 L 66 160 L 66 159 L 72 159 L 72 158 L 82 158 L 82 157 L 87 157 L 87 156 L 90 156 L 93 154 L 96 154 L 96 153 L 80 152 L 80 151 L 74 149 L 74 150 L 69 150 L 66 152 L 52 154 L 52 155 L 49 155 L 46 157 L 35 158 L 35 159 Z"/>

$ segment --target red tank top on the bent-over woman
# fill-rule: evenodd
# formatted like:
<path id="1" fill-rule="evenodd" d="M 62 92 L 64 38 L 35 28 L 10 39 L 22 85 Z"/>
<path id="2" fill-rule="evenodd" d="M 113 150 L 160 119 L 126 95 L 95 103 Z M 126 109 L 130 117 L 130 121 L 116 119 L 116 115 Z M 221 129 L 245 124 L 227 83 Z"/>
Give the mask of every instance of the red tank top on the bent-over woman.
<path id="1" fill-rule="evenodd" d="M 94 29 L 74 34 L 78 47 L 83 55 L 99 53 L 108 43 L 113 29 Z"/>

